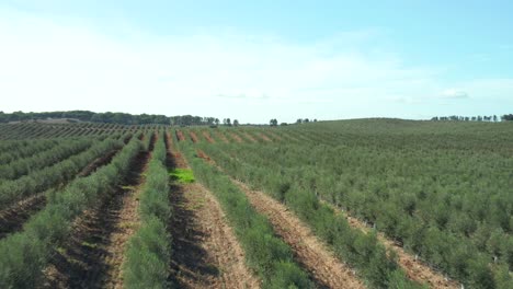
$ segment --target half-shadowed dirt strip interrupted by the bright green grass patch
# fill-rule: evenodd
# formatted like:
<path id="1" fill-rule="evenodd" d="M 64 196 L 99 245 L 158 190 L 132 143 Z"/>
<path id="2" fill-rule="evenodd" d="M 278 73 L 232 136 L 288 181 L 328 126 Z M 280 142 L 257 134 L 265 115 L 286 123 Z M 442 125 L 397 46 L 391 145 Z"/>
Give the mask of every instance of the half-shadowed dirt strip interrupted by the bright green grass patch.
<path id="1" fill-rule="evenodd" d="M 168 136 L 168 143 L 171 139 Z M 189 169 L 169 147 L 169 166 Z M 197 183 L 174 184 L 171 279 L 179 288 L 259 288 L 244 263 L 244 252 L 213 194 Z"/>

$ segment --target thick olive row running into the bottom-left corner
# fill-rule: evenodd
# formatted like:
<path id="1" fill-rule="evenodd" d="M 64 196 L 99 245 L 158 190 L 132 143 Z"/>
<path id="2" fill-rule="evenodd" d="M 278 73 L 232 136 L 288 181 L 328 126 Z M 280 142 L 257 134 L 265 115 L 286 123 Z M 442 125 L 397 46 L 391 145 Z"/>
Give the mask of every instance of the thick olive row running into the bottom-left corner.
<path id="1" fill-rule="evenodd" d="M 134 139 L 88 177 L 79 177 L 58 194 L 50 194 L 46 207 L 33 216 L 24 231 L 0 241 L 0 288 L 34 288 L 53 250 L 64 242 L 71 222 L 101 201 L 102 195 L 121 183 L 141 148 Z"/>

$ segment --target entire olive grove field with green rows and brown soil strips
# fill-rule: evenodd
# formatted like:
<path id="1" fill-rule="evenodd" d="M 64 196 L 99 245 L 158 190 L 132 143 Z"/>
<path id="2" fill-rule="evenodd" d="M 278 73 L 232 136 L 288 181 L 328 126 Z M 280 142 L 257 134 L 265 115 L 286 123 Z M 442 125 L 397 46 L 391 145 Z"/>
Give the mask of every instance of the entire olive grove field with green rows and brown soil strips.
<path id="1" fill-rule="evenodd" d="M 0 288 L 513 288 L 511 122 L 0 124 Z"/>

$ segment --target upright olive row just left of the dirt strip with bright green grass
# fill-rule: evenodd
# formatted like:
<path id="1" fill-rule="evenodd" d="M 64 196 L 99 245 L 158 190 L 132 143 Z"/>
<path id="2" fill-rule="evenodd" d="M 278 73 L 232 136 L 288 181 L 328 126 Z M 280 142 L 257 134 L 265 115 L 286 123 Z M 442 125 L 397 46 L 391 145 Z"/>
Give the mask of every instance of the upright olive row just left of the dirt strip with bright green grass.
<path id="1" fill-rule="evenodd" d="M 155 144 L 140 192 L 140 228 L 128 241 L 123 265 L 125 288 L 168 288 L 171 235 L 169 175 L 164 166 L 167 149 L 163 134 Z"/>

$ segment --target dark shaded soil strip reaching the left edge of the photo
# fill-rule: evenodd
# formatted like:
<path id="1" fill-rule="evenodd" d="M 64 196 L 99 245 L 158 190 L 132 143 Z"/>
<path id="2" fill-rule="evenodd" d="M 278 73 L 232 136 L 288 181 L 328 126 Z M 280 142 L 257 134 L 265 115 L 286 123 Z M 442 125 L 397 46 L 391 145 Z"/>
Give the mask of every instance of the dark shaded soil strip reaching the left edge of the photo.
<path id="1" fill-rule="evenodd" d="M 118 150 L 113 150 L 110 153 L 98 158 L 77 174 L 77 176 L 83 177 L 90 175 L 98 167 L 109 163 L 117 151 Z M 61 187 L 64 187 L 64 184 L 54 187 L 54 189 L 59 189 Z M 0 239 L 22 230 L 23 224 L 34 213 L 46 206 L 46 192 L 33 195 L 0 211 Z"/>

